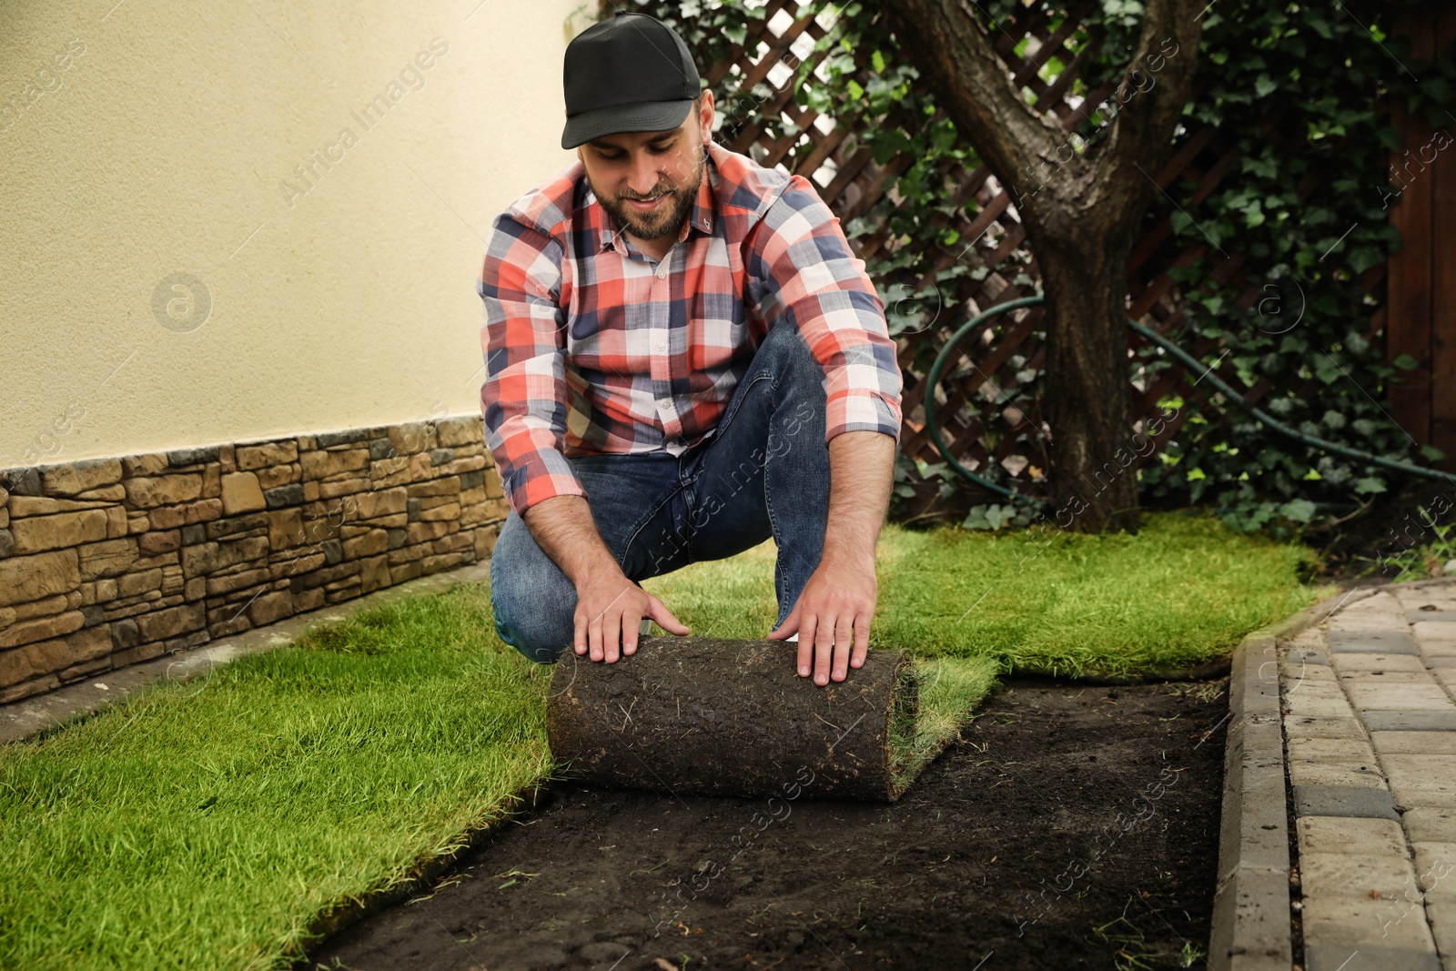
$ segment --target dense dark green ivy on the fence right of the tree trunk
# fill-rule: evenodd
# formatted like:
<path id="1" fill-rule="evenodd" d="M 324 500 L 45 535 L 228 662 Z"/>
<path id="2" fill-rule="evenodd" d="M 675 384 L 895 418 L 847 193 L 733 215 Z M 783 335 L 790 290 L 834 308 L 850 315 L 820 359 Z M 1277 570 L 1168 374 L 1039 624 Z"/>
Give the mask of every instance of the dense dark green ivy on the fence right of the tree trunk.
<path id="1" fill-rule="evenodd" d="M 1388 365 L 1372 317 L 1385 300 L 1383 263 L 1401 246 L 1388 208 L 1388 159 L 1401 150 L 1389 108 L 1404 102 L 1434 128 L 1452 127 L 1456 119 L 1441 115 L 1453 66 L 1420 63 L 1408 42 L 1388 36 L 1390 4 L 1216 10 L 1200 51 L 1206 87 L 1185 118 L 1190 128 L 1217 125 L 1239 162 L 1207 198 L 1195 199 L 1190 183 L 1171 188 L 1178 239 L 1204 250 L 1168 271 L 1185 314 L 1169 336 L 1184 346 L 1214 341 L 1206 362 L 1227 352 L 1222 373 L 1235 371 L 1236 386 L 1270 381 L 1261 406 L 1305 435 L 1386 459 L 1439 460 L 1434 448 L 1417 450 L 1382 405 L 1417 362 Z M 1223 253 L 1245 255 L 1242 281 L 1219 284 Z M 1249 285 L 1258 298 L 1241 309 Z M 1222 396 L 1194 408 L 1198 425 L 1143 475 L 1149 502 L 1211 499 L 1232 524 L 1258 528 L 1307 523 L 1315 504 L 1399 485 L 1383 469 L 1277 435 Z"/>

